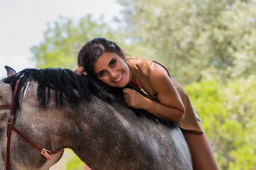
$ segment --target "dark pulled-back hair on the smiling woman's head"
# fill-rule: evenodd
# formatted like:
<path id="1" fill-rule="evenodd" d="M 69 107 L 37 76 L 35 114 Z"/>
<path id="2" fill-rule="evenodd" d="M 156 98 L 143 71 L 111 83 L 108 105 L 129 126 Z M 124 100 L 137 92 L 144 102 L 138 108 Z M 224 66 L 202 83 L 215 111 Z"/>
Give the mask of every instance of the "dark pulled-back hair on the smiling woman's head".
<path id="1" fill-rule="evenodd" d="M 105 38 L 97 37 L 87 41 L 78 53 L 78 66 L 83 66 L 84 71 L 90 76 L 95 76 L 94 64 L 104 52 L 116 53 L 125 60 L 125 54 L 115 42 Z"/>

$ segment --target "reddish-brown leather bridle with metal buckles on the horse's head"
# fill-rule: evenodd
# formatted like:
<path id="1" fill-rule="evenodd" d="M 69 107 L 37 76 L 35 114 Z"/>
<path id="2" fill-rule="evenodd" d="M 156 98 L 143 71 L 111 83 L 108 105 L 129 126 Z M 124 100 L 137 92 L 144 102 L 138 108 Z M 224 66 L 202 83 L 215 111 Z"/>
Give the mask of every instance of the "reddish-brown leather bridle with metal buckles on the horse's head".
<path id="1" fill-rule="evenodd" d="M 62 150 L 46 150 L 43 147 L 38 146 L 34 142 L 32 142 L 29 138 L 27 138 L 25 135 L 23 135 L 19 130 L 17 130 L 13 125 L 12 125 L 12 120 L 13 120 L 13 103 L 14 103 L 14 97 L 17 93 L 17 88 L 20 83 L 20 79 L 17 80 L 15 84 L 15 88 L 12 94 L 12 103 L 11 105 L 0 105 L 0 109 L 11 109 L 10 110 L 10 115 L 7 118 L 7 147 L 6 147 L 6 170 L 11 169 L 11 161 L 10 161 L 10 149 L 11 149 L 11 136 L 12 136 L 12 130 L 15 131 L 20 137 L 22 137 L 26 142 L 28 142 L 31 146 L 35 147 L 35 149 L 39 150 L 42 155 L 44 155 L 48 160 L 51 159 L 50 155 L 51 154 L 56 154 L 60 153 Z"/>

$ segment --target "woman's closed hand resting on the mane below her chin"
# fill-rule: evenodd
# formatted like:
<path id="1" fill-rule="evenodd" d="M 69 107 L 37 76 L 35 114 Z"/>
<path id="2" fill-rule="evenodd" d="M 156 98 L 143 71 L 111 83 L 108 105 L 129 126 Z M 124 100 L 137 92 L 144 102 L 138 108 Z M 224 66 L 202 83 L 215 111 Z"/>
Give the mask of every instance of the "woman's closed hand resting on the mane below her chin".
<path id="1" fill-rule="evenodd" d="M 144 96 L 142 96 L 139 92 L 130 88 L 124 88 L 123 94 L 125 102 L 129 107 L 135 109 L 142 108 Z"/>

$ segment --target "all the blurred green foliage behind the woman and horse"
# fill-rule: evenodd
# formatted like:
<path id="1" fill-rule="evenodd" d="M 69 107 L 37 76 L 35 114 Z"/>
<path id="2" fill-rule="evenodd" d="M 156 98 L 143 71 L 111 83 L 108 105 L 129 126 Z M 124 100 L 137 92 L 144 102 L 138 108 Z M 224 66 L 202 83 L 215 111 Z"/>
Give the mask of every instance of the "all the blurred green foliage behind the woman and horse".
<path id="1" fill-rule="evenodd" d="M 117 0 L 114 26 L 60 17 L 31 48 L 38 68 L 76 68 L 86 40 L 105 37 L 155 59 L 181 82 L 220 170 L 256 170 L 256 0 Z M 76 156 L 68 170 L 81 169 Z"/>

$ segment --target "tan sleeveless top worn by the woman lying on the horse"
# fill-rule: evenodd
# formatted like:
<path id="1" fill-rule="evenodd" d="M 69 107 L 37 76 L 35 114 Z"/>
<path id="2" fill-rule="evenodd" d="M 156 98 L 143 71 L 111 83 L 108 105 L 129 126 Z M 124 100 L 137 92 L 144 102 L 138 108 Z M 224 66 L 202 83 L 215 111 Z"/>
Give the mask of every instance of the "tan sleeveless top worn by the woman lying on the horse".
<path id="1" fill-rule="evenodd" d="M 130 66 L 131 70 L 133 71 L 134 78 L 136 79 L 137 83 L 148 94 L 148 96 L 146 95 L 146 97 L 149 99 L 157 100 L 157 97 L 156 97 L 157 93 L 154 90 L 153 86 L 151 85 L 151 82 L 149 79 L 150 66 L 152 62 L 156 62 L 156 61 L 153 61 L 151 59 L 144 59 L 144 58 L 127 57 L 126 62 Z M 199 127 L 199 122 L 196 119 L 188 94 L 186 93 L 184 88 L 180 85 L 180 83 L 176 79 L 170 76 L 169 71 L 165 66 L 163 66 L 159 62 L 156 62 L 156 63 L 166 69 L 185 107 L 184 119 L 182 122 L 178 122 L 178 125 L 180 126 L 180 128 L 184 130 L 203 134 L 203 132 Z"/>

